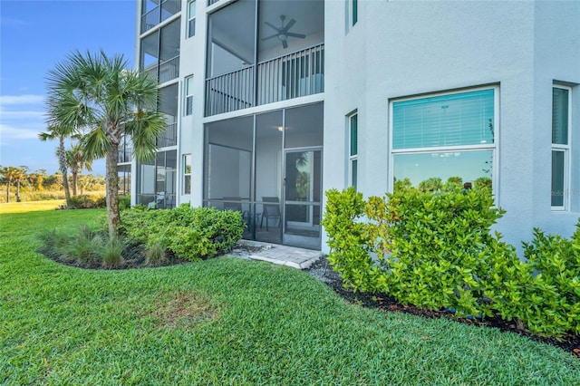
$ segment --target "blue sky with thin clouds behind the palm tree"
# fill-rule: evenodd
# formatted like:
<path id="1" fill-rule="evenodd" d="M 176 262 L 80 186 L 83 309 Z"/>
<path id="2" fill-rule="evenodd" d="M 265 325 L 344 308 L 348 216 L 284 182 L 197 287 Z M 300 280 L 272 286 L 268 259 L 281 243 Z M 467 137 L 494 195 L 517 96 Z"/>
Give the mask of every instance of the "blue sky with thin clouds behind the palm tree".
<path id="1" fill-rule="evenodd" d="M 58 170 L 45 130 L 45 77 L 66 55 L 121 53 L 133 66 L 135 0 L 0 0 L 0 165 Z M 104 174 L 102 160 L 93 173 Z"/>

